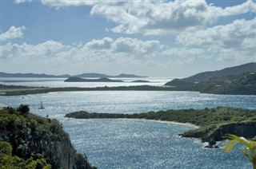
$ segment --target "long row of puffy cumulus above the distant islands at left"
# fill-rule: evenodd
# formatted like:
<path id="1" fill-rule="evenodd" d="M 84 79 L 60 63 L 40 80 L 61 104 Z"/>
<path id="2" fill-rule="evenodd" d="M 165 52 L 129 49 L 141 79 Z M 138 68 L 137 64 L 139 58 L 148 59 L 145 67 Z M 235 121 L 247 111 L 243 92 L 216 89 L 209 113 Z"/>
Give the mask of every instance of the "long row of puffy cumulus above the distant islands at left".
<path id="1" fill-rule="evenodd" d="M 141 41 L 136 38 L 120 37 L 116 40 L 104 37 L 85 45 L 63 45 L 58 41 L 45 41 L 38 45 L 26 43 L 2 45 L 2 58 L 51 58 L 59 57 L 68 61 L 115 61 L 121 57 L 143 59 L 161 51 L 159 41 Z"/>

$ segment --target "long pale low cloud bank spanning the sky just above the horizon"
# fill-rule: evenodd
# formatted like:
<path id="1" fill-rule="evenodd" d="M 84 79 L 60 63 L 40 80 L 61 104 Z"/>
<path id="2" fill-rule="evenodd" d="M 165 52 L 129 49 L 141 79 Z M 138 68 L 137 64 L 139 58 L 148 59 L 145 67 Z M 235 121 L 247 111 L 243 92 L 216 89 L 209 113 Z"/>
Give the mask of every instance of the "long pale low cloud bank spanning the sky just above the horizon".
<path id="1" fill-rule="evenodd" d="M 251 38 L 246 38 L 242 46 L 253 49 Z M 255 41 L 252 41 L 255 42 Z M 142 41 L 136 38 L 104 37 L 86 44 L 74 43 L 63 45 L 58 41 L 45 41 L 38 45 L 26 43 L 6 43 L 2 45 L 2 70 L 13 72 L 14 68 L 26 72 L 43 71 L 44 73 L 137 73 L 150 76 L 170 76 L 184 73 L 187 68 L 206 60 L 215 64 L 221 61 L 245 63 L 252 61 L 246 50 L 220 48 L 202 49 L 196 47 L 170 47 L 159 41 Z M 213 57 L 216 56 L 216 57 Z M 241 57 L 244 56 L 244 57 Z M 254 61 L 254 60 L 253 60 Z M 180 69 L 184 68 L 184 70 Z M 58 67 L 58 69 L 56 69 Z M 207 66 L 199 69 L 209 69 Z M 48 71 L 48 72 L 46 72 Z M 40 73 L 40 72 L 39 72 Z M 42 72 L 41 72 L 42 73 Z M 190 72 L 192 73 L 192 72 Z M 195 73 L 195 72 L 193 72 Z M 192 74 L 193 74 L 192 73 Z"/>

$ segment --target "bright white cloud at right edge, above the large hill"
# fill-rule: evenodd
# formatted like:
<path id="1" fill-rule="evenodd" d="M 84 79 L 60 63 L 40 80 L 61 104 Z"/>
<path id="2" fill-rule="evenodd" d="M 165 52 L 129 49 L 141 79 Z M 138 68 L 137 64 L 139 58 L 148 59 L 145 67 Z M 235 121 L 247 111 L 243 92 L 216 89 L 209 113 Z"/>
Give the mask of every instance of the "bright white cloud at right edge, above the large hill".
<path id="1" fill-rule="evenodd" d="M 182 45 L 211 45 L 217 48 L 234 49 L 254 41 L 255 28 L 256 18 L 248 21 L 245 19 L 235 20 L 226 26 L 214 26 L 179 34 L 176 37 L 176 42 Z"/>

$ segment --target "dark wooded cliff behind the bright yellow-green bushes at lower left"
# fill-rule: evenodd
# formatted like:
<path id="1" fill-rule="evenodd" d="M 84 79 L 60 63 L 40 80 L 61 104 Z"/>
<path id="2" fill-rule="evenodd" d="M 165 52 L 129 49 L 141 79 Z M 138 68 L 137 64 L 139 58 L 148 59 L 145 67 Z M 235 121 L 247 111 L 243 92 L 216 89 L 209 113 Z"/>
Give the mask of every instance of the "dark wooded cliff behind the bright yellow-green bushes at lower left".
<path id="1" fill-rule="evenodd" d="M 41 154 L 52 168 L 93 168 L 78 154 L 58 120 L 30 114 L 29 109 L 0 111 L 0 141 L 9 142 L 12 155 L 29 159 Z"/>

